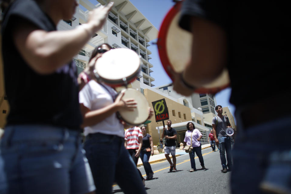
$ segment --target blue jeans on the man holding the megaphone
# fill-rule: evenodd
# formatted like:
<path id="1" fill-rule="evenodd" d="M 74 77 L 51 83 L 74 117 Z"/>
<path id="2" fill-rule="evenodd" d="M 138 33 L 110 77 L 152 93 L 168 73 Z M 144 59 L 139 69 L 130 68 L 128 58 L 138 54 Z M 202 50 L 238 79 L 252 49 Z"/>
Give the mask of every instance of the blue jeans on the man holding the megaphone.
<path id="1" fill-rule="evenodd" d="M 232 169 L 231 137 L 218 136 L 217 139 L 219 141 L 219 153 L 220 153 L 222 169 L 225 169 L 226 166 L 229 169 Z M 225 153 L 226 153 L 227 165 L 226 165 Z"/>

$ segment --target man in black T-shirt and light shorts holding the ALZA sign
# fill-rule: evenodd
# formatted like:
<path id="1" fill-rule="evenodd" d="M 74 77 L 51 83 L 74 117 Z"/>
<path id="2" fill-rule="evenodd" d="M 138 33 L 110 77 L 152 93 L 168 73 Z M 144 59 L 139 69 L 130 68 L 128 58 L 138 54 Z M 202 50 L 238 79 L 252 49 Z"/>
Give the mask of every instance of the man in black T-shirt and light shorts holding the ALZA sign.
<path id="1" fill-rule="evenodd" d="M 165 157 L 170 163 L 170 172 L 177 172 L 176 169 L 176 139 L 177 139 L 177 132 L 176 129 L 171 127 L 172 121 L 168 120 L 167 121 L 167 128 L 163 128 L 163 134 L 162 134 L 162 139 L 166 139 L 165 143 Z M 173 158 L 173 162 L 171 161 L 170 158 L 170 153 Z"/>

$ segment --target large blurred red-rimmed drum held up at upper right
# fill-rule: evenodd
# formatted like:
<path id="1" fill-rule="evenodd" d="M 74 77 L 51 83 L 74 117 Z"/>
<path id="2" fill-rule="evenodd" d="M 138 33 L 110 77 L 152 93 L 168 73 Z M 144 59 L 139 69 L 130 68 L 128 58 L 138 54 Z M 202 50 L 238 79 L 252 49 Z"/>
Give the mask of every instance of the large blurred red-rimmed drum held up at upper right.
<path id="1" fill-rule="evenodd" d="M 182 72 L 191 59 L 192 34 L 179 27 L 180 9 L 183 1 L 177 2 L 164 18 L 159 35 L 158 49 L 162 65 L 173 80 L 173 72 Z M 229 86 L 226 69 L 213 82 L 195 90 L 197 93 L 216 93 Z"/>

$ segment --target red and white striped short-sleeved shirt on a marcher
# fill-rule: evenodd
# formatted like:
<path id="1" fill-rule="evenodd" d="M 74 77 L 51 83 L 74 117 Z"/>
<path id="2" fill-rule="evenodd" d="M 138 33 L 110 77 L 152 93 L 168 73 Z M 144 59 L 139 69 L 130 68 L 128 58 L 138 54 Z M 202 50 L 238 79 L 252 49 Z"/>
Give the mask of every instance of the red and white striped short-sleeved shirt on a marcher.
<path id="1" fill-rule="evenodd" d="M 139 149 L 139 137 L 142 137 L 142 130 L 139 127 L 126 129 L 124 137 L 127 141 L 126 149 Z"/>

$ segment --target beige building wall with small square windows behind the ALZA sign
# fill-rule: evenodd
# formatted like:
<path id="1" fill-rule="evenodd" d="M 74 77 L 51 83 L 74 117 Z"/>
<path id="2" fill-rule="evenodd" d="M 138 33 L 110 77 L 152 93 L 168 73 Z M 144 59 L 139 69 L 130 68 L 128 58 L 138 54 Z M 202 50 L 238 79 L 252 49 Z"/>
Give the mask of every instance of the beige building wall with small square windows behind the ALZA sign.
<path id="1" fill-rule="evenodd" d="M 186 107 L 178 102 L 175 102 L 171 99 L 168 99 L 163 95 L 160 95 L 156 92 L 153 92 L 150 89 L 144 89 L 144 94 L 145 94 L 146 99 L 149 102 L 149 106 L 152 109 L 153 109 L 152 102 L 163 99 L 163 98 L 166 100 L 166 104 L 167 104 L 168 111 L 169 111 L 169 119 L 172 121 L 172 124 L 192 120 L 190 108 L 188 108 L 188 107 Z M 174 113 L 174 115 L 173 115 L 173 113 Z M 162 126 L 163 124 L 162 124 L 162 122 L 157 123 L 154 116 L 152 116 L 152 118 L 150 118 L 149 120 L 151 122 L 148 123 L 146 126 L 147 133 L 152 135 L 153 144 L 156 145 L 159 142 L 159 134 L 158 134 L 158 130 L 156 129 L 156 127 Z M 166 125 L 167 120 L 164 122 Z M 160 130 L 160 138 L 162 138 L 162 130 Z"/>

